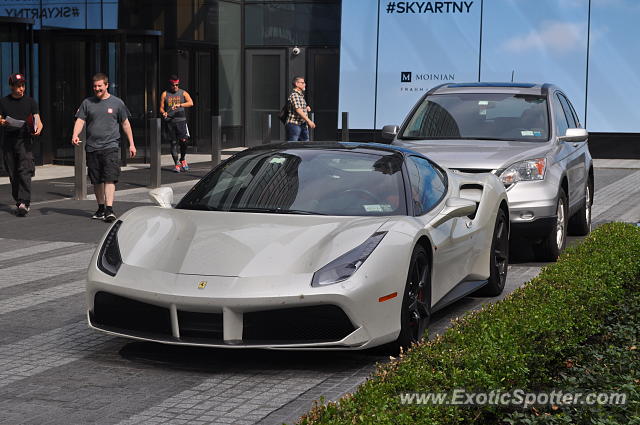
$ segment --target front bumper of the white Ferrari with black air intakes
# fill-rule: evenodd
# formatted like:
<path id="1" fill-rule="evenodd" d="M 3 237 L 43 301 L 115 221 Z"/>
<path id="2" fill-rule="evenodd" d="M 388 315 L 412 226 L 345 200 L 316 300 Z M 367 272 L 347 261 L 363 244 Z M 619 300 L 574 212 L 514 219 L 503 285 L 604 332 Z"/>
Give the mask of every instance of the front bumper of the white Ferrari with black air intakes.
<path id="1" fill-rule="evenodd" d="M 113 335 L 207 347 L 364 349 L 397 337 L 399 324 L 389 317 L 398 316 L 401 297 L 372 309 L 363 303 L 372 296 L 362 282 L 314 288 L 310 281 L 309 275 L 200 276 L 128 265 L 114 278 L 90 267 L 87 318 Z"/>

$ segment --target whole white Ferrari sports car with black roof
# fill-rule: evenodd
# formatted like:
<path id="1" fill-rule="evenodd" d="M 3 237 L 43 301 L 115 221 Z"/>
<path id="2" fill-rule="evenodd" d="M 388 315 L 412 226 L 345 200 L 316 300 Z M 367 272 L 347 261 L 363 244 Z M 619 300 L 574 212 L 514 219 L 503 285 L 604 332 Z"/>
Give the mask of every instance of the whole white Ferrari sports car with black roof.
<path id="1" fill-rule="evenodd" d="M 248 149 L 171 206 L 116 221 L 88 271 L 91 327 L 207 347 L 408 346 L 436 310 L 495 296 L 509 211 L 493 174 L 449 171 L 399 147 Z"/>

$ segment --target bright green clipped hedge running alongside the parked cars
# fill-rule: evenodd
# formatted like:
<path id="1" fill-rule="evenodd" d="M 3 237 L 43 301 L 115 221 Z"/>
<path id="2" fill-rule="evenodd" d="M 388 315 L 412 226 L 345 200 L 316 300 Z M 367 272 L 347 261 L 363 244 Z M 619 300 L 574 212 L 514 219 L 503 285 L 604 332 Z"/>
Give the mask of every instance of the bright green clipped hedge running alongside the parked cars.
<path id="1" fill-rule="evenodd" d="M 299 423 L 483 423 L 496 407 L 403 405 L 399 394 L 540 385 L 565 353 L 598 332 L 621 298 L 638 290 L 639 280 L 640 228 L 603 225 L 505 300 L 379 365 L 355 394 L 315 407 Z"/>

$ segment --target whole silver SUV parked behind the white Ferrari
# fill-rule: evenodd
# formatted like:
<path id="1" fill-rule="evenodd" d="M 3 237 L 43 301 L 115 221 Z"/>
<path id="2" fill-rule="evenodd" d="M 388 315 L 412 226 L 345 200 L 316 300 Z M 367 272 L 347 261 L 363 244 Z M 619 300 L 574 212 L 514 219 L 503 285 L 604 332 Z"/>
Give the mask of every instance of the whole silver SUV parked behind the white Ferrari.
<path id="1" fill-rule="evenodd" d="M 588 133 L 551 84 L 443 84 L 401 127 L 382 137 L 463 172 L 496 174 L 509 198 L 511 234 L 555 261 L 567 232 L 591 230 L 593 165 Z"/>

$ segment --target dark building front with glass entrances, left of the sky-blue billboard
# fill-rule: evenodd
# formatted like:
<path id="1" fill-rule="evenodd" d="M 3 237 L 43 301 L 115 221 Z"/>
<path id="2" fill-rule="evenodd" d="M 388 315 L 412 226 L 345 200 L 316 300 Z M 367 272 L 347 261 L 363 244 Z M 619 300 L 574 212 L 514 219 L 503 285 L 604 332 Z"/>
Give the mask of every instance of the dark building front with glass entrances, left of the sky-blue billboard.
<path id="1" fill-rule="evenodd" d="M 73 162 L 73 116 L 96 72 L 109 75 L 111 93 L 129 107 L 143 161 L 148 120 L 158 117 L 171 74 L 194 99 L 195 152 L 210 151 L 218 115 L 223 148 L 261 144 L 267 132 L 282 140 L 276 116 L 297 75 L 309 82 L 315 138 L 335 139 L 340 8 L 332 0 L 0 1 L 2 94 L 12 72 L 32 82 L 46 125 L 38 164 Z"/>

